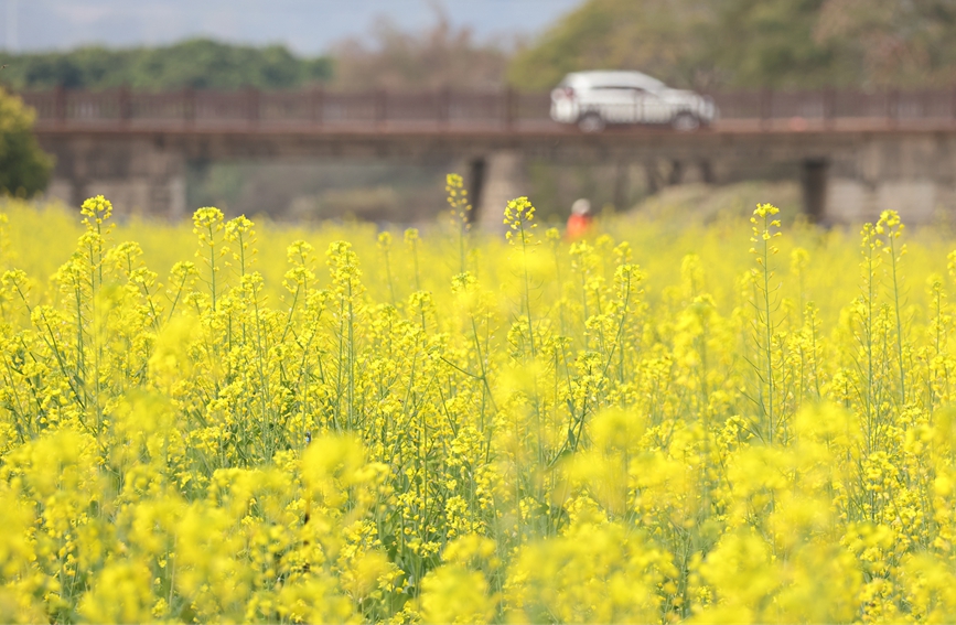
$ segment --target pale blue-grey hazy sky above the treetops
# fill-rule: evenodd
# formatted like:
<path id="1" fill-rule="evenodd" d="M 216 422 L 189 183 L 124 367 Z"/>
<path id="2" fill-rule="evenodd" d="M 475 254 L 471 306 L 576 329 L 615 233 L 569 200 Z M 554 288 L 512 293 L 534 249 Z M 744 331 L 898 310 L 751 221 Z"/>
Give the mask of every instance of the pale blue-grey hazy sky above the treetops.
<path id="1" fill-rule="evenodd" d="M 477 39 L 533 36 L 581 0 L 0 0 L 0 49 L 159 45 L 192 36 L 281 43 L 302 55 L 365 36 L 377 18 L 425 30 L 442 7 Z"/>

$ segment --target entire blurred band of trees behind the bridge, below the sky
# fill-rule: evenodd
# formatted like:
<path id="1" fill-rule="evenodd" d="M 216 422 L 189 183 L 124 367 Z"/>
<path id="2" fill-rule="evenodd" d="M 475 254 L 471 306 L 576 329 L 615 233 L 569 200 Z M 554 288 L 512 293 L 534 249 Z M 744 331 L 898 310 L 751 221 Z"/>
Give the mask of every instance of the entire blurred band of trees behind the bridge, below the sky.
<path id="1" fill-rule="evenodd" d="M 190 40 L 161 47 L 0 52 L 0 84 L 103 89 L 546 90 L 577 69 L 674 86 L 914 88 L 956 82 L 956 0 L 586 0 L 529 39 L 479 41 L 440 9 L 427 32 L 387 19 L 322 56 Z"/>

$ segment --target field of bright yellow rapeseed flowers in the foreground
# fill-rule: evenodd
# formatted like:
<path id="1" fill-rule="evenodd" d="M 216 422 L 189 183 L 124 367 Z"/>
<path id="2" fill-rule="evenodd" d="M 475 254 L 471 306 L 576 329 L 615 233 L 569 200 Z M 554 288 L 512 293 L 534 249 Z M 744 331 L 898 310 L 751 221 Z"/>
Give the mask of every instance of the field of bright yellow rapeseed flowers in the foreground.
<path id="1" fill-rule="evenodd" d="M 448 183 L 377 235 L 6 201 L 0 621 L 956 617 L 956 239 L 505 239 Z"/>

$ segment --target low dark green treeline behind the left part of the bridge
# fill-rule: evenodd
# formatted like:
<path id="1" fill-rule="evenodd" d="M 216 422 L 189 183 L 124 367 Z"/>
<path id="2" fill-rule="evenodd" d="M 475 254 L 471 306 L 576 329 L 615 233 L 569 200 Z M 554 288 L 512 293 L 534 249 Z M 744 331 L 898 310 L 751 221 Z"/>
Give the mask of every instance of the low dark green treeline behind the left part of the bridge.
<path id="1" fill-rule="evenodd" d="M 105 89 L 128 85 L 141 90 L 289 89 L 327 80 L 329 57 L 300 58 L 281 45 L 251 47 L 196 39 L 165 47 L 0 55 L 8 68 L 0 84 L 14 89 Z"/>

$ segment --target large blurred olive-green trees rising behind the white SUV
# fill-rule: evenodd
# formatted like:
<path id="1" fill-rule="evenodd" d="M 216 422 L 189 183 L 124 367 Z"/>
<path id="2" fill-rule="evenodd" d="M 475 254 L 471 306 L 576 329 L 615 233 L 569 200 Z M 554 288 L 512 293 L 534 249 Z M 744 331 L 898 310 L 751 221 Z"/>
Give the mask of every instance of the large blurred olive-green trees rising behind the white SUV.
<path id="1" fill-rule="evenodd" d="M 587 0 L 515 55 L 509 82 L 640 69 L 695 88 L 943 87 L 950 0 Z"/>

